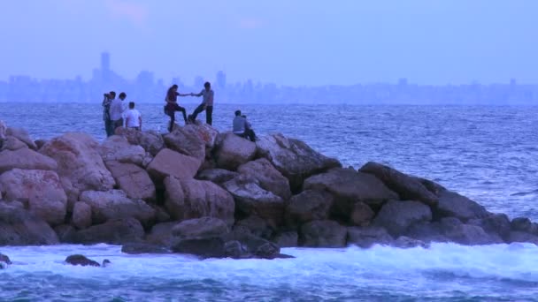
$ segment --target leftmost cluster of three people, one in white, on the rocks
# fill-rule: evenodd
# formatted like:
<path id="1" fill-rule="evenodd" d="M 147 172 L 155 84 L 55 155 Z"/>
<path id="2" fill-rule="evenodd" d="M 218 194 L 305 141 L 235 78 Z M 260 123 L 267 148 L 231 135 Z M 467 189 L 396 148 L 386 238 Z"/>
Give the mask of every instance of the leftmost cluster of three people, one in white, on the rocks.
<path id="1" fill-rule="evenodd" d="M 103 99 L 103 120 L 104 131 L 109 137 L 114 134 L 116 128 L 125 126 L 142 130 L 142 115 L 140 111 L 135 109 L 135 102 L 129 102 L 128 109 L 125 108 L 126 93 L 119 94 L 116 98 L 116 92 L 111 91 L 104 94 Z"/>

